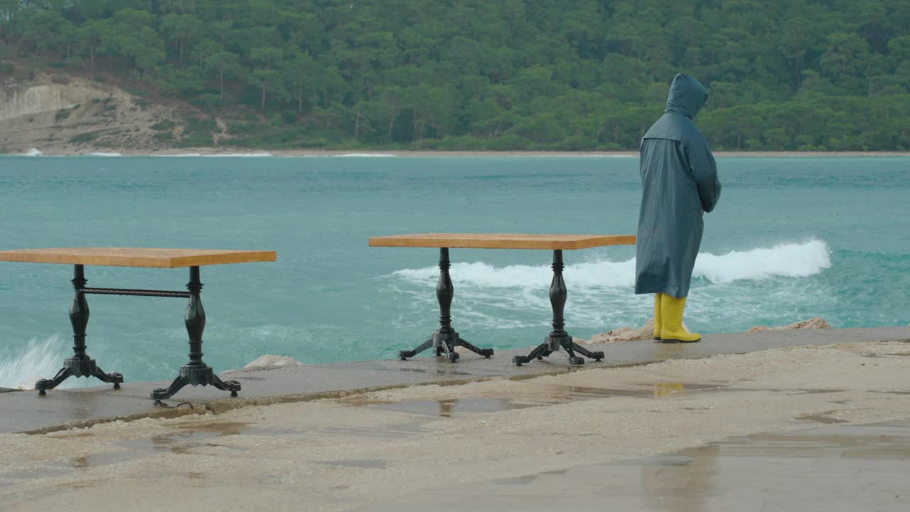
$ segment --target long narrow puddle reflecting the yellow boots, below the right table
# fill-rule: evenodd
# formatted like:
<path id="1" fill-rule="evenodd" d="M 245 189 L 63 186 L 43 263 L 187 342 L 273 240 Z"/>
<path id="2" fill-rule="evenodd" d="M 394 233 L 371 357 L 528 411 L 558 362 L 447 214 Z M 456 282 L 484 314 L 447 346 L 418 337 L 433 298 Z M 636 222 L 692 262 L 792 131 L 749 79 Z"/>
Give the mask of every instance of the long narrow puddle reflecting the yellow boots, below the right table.
<path id="1" fill-rule="evenodd" d="M 456 414 L 468 413 L 499 413 L 541 407 L 543 405 L 568 404 L 583 400 L 597 398 L 664 398 L 672 395 L 686 394 L 688 392 L 718 390 L 732 391 L 718 384 L 682 384 L 660 383 L 650 387 L 642 386 L 630 389 L 604 389 L 586 386 L 564 385 L 535 385 L 530 384 L 528 394 L 521 398 L 445 398 L 439 400 L 413 400 L 405 402 L 386 402 L 355 398 L 342 400 L 342 404 L 366 406 L 374 409 L 410 413 L 415 415 L 430 415 L 449 418 Z"/>

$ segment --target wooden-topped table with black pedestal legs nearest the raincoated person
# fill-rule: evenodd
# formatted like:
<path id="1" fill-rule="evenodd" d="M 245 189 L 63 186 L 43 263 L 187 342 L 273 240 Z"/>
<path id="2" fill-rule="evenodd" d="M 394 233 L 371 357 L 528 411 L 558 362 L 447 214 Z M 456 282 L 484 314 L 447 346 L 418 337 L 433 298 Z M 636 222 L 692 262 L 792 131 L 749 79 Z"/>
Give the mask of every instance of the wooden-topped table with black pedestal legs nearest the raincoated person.
<path id="1" fill-rule="evenodd" d="M 432 247 L 440 248 L 440 280 L 436 284 L 436 297 L 440 302 L 440 329 L 432 337 L 421 343 L 414 350 L 400 351 L 399 358 L 404 361 L 409 357 L 421 353 L 430 347 L 436 349 L 436 355 L 443 353 L 451 362 L 459 358 L 455 347 L 463 346 L 473 353 L 485 357 L 493 354 L 492 349 L 480 349 L 462 340 L 458 333 L 451 327 L 451 302 L 454 296 L 449 269 L 449 250 L 461 249 L 545 249 L 553 251 L 553 280 L 550 284 L 550 303 L 553 310 L 553 330 L 540 346 L 526 356 L 515 356 L 512 363 L 521 366 L 534 359 L 542 359 L 551 353 L 560 350 L 569 355 L 570 364 L 584 364 L 584 359 L 575 355 L 581 353 L 585 357 L 601 361 L 602 352 L 591 352 L 578 343 L 572 341 L 569 333 L 565 331 L 566 292 L 565 282 L 562 280 L 562 251 L 588 249 L 607 245 L 634 245 L 633 235 L 533 235 L 533 234 L 491 234 L 491 233 L 421 233 L 413 235 L 396 235 L 386 237 L 373 237 L 369 239 L 370 247 Z"/>

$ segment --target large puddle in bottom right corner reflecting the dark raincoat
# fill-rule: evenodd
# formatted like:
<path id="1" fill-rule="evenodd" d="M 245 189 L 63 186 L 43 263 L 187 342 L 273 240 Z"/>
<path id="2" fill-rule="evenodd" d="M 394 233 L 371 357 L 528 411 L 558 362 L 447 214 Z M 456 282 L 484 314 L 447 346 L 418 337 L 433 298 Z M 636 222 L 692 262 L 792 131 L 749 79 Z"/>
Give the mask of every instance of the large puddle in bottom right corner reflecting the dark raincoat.
<path id="1" fill-rule="evenodd" d="M 576 482 L 597 482 L 607 493 L 601 496 L 621 494 L 624 508 L 635 510 L 757 510 L 764 499 L 775 498 L 790 504 L 787 510 L 804 510 L 814 508 L 820 496 L 840 491 L 853 498 L 824 507 L 897 511 L 907 510 L 905 461 L 910 461 L 910 421 L 738 436 L 657 456 L 575 466 L 546 483 L 537 481 L 543 473 L 490 483 L 556 493 Z M 860 489 L 865 492 L 857 493 Z M 758 507 L 743 505 L 743 496 L 760 497 Z M 881 505 L 864 507 L 870 502 Z"/>

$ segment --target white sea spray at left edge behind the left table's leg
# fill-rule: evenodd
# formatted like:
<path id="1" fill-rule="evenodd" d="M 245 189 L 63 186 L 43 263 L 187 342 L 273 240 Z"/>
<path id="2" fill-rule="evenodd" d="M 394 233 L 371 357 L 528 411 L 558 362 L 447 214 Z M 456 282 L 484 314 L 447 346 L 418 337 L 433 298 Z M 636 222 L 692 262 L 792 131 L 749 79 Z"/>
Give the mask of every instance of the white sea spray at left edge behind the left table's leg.
<path id="1" fill-rule="evenodd" d="M 35 381 L 53 377 L 66 356 L 70 343 L 60 334 L 45 340 L 32 338 L 19 352 L 0 354 L 0 387 L 35 389 Z M 61 387 L 71 386 L 69 379 Z"/>

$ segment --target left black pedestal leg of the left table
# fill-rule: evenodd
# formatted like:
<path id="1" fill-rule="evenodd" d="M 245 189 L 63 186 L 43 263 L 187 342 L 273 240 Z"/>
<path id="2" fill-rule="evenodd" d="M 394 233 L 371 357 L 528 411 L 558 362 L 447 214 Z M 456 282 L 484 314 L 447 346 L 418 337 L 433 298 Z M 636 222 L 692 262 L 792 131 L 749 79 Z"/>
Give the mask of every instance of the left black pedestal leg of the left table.
<path id="1" fill-rule="evenodd" d="M 95 377 L 101 382 L 114 384 L 114 389 L 120 389 L 120 383 L 123 382 L 123 375 L 106 374 L 86 353 L 88 302 L 86 294 L 82 292 L 87 282 L 85 268 L 82 265 L 76 265 L 73 274 L 72 283 L 76 295 L 73 297 L 73 304 L 69 307 L 69 323 L 73 324 L 73 357 L 64 361 L 63 368 L 53 379 L 41 379 L 35 383 L 38 394 L 47 394 L 48 389 L 54 389 L 69 377 Z"/>

